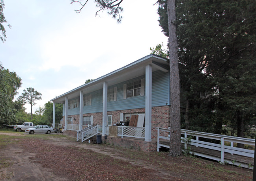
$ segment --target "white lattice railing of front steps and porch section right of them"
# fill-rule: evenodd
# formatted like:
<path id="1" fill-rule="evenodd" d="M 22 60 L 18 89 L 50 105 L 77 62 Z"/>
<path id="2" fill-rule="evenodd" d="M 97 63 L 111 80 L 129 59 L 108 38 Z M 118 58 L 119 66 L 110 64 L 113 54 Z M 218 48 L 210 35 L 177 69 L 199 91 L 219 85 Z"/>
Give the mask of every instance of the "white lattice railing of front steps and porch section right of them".
<path id="1" fill-rule="evenodd" d="M 79 133 L 78 133 L 79 132 Z M 81 132 L 78 131 L 77 134 L 81 134 L 82 142 L 90 137 L 93 137 L 97 134 L 103 133 L 103 126 L 95 126 L 88 130 L 84 130 Z M 109 127 L 105 126 L 106 135 L 109 134 Z M 118 126 L 118 136 L 123 137 L 132 137 L 132 138 L 142 138 L 145 139 L 145 127 L 127 127 L 127 126 Z M 77 135 L 77 137 L 80 137 Z"/>

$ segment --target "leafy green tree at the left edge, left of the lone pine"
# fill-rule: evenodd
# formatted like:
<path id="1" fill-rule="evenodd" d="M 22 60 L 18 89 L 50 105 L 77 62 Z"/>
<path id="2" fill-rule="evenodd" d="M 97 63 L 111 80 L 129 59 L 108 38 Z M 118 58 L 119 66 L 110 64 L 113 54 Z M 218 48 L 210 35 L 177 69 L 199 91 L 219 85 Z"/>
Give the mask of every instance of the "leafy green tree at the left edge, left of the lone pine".
<path id="1" fill-rule="evenodd" d="M 15 124 L 14 96 L 21 87 L 21 78 L 16 72 L 4 69 L 0 62 L 0 124 Z"/>

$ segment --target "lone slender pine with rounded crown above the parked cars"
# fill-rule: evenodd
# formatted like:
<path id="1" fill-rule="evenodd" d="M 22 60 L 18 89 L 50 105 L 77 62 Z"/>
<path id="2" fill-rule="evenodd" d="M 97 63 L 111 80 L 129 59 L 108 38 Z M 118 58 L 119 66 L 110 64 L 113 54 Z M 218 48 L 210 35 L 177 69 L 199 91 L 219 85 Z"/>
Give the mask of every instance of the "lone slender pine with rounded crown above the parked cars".
<path id="1" fill-rule="evenodd" d="M 22 93 L 22 95 L 20 96 L 20 99 L 24 102 L 24 103 L 29 103 L 31 105 L 31 120 L 33 118 L 32 116 L 32 107 L 33 105 L 36 104 L 37 100 L 41 100 L 41 96 L 42 94 L 37 92 L 34 88 L 29 87 L 27 89 L 23 90 L 24 93 Z"/>

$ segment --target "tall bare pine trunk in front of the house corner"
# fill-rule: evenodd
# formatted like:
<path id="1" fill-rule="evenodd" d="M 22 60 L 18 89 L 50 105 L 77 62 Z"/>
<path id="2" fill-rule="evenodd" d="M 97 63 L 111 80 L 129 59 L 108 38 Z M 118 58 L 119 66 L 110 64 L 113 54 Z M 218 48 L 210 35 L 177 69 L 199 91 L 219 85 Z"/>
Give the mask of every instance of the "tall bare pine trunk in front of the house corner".
<path id="1" fill-rule="evenodd" d="M 170 49 L 170 156 L 181 155 L 180 98 L 179 98 L 179 59 L 176 35 L 175 0 L 167 0 Z"/>

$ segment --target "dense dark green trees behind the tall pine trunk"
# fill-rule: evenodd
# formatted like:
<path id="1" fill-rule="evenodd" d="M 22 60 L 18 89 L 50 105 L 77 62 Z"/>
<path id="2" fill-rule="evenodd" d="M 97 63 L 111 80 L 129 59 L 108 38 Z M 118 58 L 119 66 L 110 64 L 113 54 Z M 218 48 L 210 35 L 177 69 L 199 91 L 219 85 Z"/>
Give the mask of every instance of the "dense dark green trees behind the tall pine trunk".
<path id="1" fill-rule="evenodd" d="M 166 3 L 161 1 L 158 14 L 168 36 Z M 229 124 L 243 137 L 245 122 L 255 120 L 256 74 L 250 67 L 256 62 L 256 1 L 177 0 L 176 12 L 189 127 L 201 122 L 196 129 L 205 129 L 210 121 L 210 130 L 220 134 Z"/>

